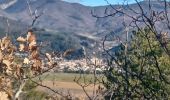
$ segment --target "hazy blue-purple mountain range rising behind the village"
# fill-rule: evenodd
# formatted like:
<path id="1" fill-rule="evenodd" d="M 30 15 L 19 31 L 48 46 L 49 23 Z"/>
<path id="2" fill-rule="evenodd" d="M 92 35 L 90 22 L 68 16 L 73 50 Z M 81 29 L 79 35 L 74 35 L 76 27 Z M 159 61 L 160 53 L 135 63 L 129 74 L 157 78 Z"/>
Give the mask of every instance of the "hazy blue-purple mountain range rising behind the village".
<path id="1" fill-rule="evenodd" d="M 88 43 L 88 45 L 96 45 L 96 42 L 101 41 L 101 38 L 110 32 L 113 33 L 113 31 L 114 34 L 124 37 L 124 26 L 122 24 L 124 16 L 121 13 L 114 17 L 110 16 L 107 18 L 95 18 L 91 14 L 91 11 L 93 11 L 97 16 L 104 16 L 106 8 L 108 11 L 107 13 L 113 13 L 113 9 L 110 6 L 89 7 L 61 0 L 30 1 L 33 11 L 37 9 L 37 13 L 44 13 L 35 24 L 35 27 L 45 30 L 45 35 L 43 35 L 44 33 L 41 34 L 39 41 L 43 41 L 43 39 L 49 40 L 50 38 L 49 46 L 51 46 L 51 48 L 57 50 L 67 49 L 61 48 L 65 45 L 65 42 L 63 45 L 58 44 L 58 35 L 55 34 L 59 33 L 64 33 L 64 35 L 66 35 L 65 38 L 62 35 L 60 41 L 67 40 L 67 35 L 69 35 L 72 42 L 76 41 L 75 44 L 79 45 L 78 47 L 81 47 L 80 44 L 82 42 Z M 140 2 L 140 4 L 144 8 L 143 10 L 148 13 L 148 1 Z M 152 9 L 155 9 L 156 11 L 162 11 L 164 9 L 163 4 L 156 1 L 152 1 L 151 5 Z M 116 8 L 120 7 L 118 5 L 113 6 Z M 137 4 L 130 4 L 129 7 L 139 13 L 141 12 Z M 128 6 L 125 5 L 123 8 L 129 15 L 136 16 L 133 11 L 127 9 Z M 8 17 L 11 22 L 13 22 L 11 25 L 17 28 L 23 28 L 23 26 L 31 24 L 31 17 L 29 15 L 26 0 L 0 0 L 0 16 Z M 125 22 L 127 24 L 131 22 L 131 20 L 132 19 L 125 17 Z M 5 25 L 5 21 L 1 17 L 0 21 L 3 21 L 3 25 Z M 0 23 L 0 29 L 4 29 L 3 25 Z M 158 25 L 159 29 L 166 29 L 161 23 L 158 23 Z M 49 34 L 49 36 L 47 34 Z M 90 50 L 94 49 L 94 46 L 89 48 Z M 97 50 L 98 48 L 95 49 Z"/>

